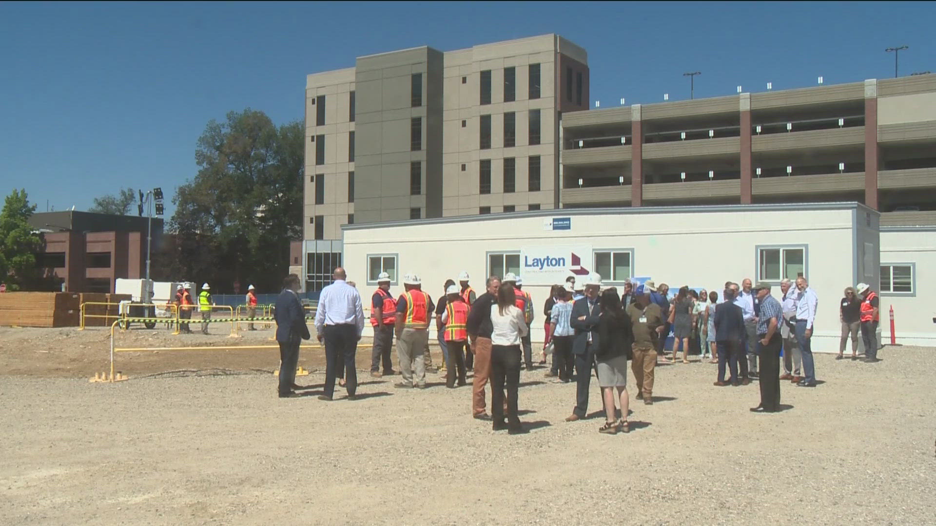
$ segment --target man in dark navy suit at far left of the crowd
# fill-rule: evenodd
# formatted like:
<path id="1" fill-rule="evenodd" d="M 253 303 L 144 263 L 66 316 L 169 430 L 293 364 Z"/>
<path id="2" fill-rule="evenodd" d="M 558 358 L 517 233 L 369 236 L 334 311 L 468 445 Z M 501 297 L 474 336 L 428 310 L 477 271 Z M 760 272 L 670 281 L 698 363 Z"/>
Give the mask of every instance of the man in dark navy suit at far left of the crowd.
<path id="1" fill-rule="evenodd" d="M 305 324 L 305 309 L 299 299 L 300 281 L 296 274 L 283 280 L 283 292 L 276 299 L 276 342 L 280 344 L 280 398 L 299 396 L 292 388 L 296 382 L 301 340 L 312 337 Z"/>

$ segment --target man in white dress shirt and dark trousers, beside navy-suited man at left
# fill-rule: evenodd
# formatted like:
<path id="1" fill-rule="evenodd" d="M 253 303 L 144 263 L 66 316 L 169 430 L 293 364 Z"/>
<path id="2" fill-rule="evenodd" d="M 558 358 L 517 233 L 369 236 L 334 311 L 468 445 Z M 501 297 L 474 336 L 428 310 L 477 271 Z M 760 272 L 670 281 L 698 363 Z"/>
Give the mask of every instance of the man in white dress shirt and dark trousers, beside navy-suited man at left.
<path id="1" fill-rule="evenodd" d="M 348 399 L 354 400 L 358 389 L 355 354 L 364 331 L 364 309 L 358 289 L 348 285 L 341 267 L 332 274 L 335 282 L 322 289 L 315 312 L 315 332 L 319 342 L 325 342 L 325 394 L 319 400 L 330 401 L 335 391 L 335 376 L 344 368 L 344 387 Z"/>

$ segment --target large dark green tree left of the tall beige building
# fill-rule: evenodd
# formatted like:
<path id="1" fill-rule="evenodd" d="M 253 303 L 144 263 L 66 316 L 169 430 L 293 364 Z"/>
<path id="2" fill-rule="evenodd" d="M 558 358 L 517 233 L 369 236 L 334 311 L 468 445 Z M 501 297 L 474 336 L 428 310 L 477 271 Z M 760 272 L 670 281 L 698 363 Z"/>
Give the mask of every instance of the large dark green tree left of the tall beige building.
<path id="1" fill-rule="evenodd" d="M 214 291 L 235 281 L 241 290 L 278 288 L 289 241 L 301 235 L 303 138 L 299 122 L 277 127 L 250 109 L 205 127 L 198 173 L 172 198 L 175 243 L 163 267 L 173 279 L 211 282 Z"/>

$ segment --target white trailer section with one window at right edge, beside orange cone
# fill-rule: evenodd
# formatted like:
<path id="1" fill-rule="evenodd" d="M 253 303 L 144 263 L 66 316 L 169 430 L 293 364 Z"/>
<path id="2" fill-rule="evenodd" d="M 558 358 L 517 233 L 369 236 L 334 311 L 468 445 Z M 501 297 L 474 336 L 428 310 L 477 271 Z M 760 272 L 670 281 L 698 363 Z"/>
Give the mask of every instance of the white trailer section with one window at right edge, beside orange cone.
<path id="1" fill-rule="evenodd" d="M 894 307 L 896 342 L 936 346 L 936 304 L 928 291 L 936 283 L 936 226 L 881 228 L 881 331 L 890 343 L 890 308 Z"/>

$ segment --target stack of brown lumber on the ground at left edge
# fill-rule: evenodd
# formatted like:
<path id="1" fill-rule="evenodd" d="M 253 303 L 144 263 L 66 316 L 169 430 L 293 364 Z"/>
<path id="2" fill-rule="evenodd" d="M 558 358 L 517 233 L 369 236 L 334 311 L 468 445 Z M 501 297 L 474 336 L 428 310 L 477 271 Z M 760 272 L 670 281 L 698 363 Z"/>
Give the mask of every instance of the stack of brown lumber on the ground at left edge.
<path id="1" fill-rule="evenodd" d="M 77 292 L 5 292 L 0 294 L 0 325 L 78 327 L 80 307 Z"/>

